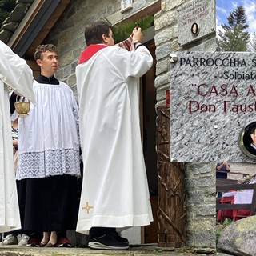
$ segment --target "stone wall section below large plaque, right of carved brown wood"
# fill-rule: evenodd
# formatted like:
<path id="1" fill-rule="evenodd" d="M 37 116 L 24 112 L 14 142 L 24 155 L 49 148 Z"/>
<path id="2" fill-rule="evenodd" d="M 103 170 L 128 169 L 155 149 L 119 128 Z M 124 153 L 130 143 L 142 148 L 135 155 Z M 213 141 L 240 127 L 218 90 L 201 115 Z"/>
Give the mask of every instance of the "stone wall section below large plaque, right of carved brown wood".
<path id="1" fill-rule="evenodd" d="M 186 163 L 186 245 L 215 247 L 215 162 Z"/>

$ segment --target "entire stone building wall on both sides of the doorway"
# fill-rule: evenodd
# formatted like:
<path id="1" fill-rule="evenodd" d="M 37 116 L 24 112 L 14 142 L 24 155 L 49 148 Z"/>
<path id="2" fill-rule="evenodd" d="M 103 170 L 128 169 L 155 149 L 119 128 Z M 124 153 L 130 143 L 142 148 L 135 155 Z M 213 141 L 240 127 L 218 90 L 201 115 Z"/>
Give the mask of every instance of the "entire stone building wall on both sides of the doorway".
<path id="1" fill-rule="evenodd" d="M 102 18 L 107 18 L 112 24 L 118 23 L 154 2 L 158 1 L 134 0 L 133 9 L 121 14 L 120 1 L 72 1 L 61 21 L 58 22 L 45 40 L 45 43 L 54 43 L 59 50 L 60 66 L 57 78 L 68 83 L 74 90 L 74 94 L 77 94 L 74 72 L 79 54 L 85 47 L 84 26 L 90 21 Z M 154 16 L 157 106 L 166 104 L 166 89 L 170 86 L 170 52 L 178 50 L 215 50 L 215 36 L 213 34 L 186 47 L 179 46 L 177 8 L 186 2 L 189 1 L 163 0 L 161 1 L 161 10 Z M 187 246 L 215 246 L 214 178 L 213 165 L 186 165 Z"/>

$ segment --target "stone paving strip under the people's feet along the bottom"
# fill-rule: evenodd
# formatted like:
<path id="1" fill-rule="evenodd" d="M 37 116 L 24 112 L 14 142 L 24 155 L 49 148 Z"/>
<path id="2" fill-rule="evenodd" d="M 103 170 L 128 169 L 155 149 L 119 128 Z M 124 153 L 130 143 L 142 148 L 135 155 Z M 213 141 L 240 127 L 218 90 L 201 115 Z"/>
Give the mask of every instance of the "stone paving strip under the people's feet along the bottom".
<path id="1" fill-rule="evenodd" d="M 174 250 L 168 248 L 159 248 L 157 246 L 136 246 L 129 250 L 90 250 L 89 248 L 38 248 L 27 246 L 0 246 L 0 255 L 2 256 L 105 256 L 105 255 L 122 255 L 122 256 L 195 256 L 195 255 L 214 255 L 213 249 L 202 250 Z"/>

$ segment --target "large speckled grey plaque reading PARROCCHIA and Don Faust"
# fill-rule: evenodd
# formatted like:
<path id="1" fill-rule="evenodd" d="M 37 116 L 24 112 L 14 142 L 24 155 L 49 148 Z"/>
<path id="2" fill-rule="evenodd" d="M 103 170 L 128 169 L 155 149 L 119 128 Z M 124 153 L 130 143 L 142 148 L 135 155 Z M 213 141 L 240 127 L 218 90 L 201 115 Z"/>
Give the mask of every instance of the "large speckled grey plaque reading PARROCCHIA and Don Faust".
<path id="1" fill-rule="evenodd" d="M 255 53 L 170 54 L 171 159 L 255 162 L 255 122 Z"/>

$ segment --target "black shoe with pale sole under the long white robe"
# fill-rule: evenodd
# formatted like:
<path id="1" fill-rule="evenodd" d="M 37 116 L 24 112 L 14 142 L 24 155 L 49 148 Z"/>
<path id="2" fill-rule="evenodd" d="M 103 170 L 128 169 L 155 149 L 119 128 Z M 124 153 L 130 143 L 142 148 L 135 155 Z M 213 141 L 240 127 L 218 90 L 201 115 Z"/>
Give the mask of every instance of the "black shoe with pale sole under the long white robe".
<path id="1" fill-rule="evenodd" d="M 103 234 L 98 238 L 91 238 L 88 246 L 91 249 L 99 250 L 127 250 L 129 245 L 125 242 L 120 242 L 113 233 Z M 123 238 L 125 239 L 125 238 Z"/>

